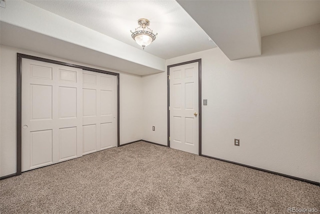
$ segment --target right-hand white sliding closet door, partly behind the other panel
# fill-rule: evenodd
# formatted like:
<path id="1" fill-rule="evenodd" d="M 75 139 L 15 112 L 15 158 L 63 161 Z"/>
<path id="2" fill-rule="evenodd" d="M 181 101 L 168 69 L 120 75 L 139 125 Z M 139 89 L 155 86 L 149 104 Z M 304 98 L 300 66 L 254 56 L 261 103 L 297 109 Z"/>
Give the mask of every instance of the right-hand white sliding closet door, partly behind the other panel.
<path id="1" fill-rule="evenodd" d="M 116 146 L 116 76 L 83 70 L 82 154 Z"/>

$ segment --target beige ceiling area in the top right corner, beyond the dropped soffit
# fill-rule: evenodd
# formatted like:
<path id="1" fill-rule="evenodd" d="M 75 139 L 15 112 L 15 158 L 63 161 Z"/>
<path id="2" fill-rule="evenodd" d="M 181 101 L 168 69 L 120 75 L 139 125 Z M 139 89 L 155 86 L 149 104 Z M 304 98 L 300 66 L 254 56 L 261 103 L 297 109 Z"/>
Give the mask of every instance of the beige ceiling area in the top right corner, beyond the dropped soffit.
<path id="1" fill-rule="evenodd" d="M 320 0 L 258 0 L 261 36 L 320 23 Z"/>

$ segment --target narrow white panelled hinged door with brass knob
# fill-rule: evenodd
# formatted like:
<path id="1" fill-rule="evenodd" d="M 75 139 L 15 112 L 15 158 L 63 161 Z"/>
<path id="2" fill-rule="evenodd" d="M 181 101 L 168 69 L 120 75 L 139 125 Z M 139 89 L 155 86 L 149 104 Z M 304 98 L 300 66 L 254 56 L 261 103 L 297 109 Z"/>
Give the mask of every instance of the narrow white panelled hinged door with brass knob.
<path id="1" fill-rule="evenodd" d="M 169 68 L 170 147 L 198 154 L 198 62 Z"/>

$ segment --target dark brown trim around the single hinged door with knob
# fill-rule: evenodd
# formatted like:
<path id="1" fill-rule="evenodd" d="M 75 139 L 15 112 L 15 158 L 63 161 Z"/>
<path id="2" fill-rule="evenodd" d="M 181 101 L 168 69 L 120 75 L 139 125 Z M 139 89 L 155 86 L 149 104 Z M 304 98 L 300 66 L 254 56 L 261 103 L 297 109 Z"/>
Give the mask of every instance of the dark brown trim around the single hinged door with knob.
<path id="1" fill-rule="evenodd" d="M 185 61 L 177 64 L 171 64 L 167 66 L 167 146 L 170 147 L 170 111 L 169 111 L 169 106 L 170 106 L 170 67 L 175 67 L 183 64 L 189 64 L 189 63 L 194 63 L 198 62 L 198 133 L 199 133 L 199 155 L 202 155 L 201 152 L 201 117 L 202 117 L 202 111 L 201 111 L 201 58 L 199 59 L 194 59 L 191 61 Z"/>

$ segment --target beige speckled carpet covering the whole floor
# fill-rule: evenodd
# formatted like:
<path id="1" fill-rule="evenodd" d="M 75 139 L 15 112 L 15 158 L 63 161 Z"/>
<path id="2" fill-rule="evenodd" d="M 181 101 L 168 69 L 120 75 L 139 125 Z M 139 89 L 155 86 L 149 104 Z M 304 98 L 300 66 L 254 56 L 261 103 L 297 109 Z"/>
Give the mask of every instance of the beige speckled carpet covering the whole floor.
<path id="1" fill-rule="evenodd" d="M 146 142 L 0 181 L 1 213 L 288 213 L 320 187 Z"/>

